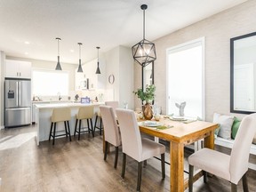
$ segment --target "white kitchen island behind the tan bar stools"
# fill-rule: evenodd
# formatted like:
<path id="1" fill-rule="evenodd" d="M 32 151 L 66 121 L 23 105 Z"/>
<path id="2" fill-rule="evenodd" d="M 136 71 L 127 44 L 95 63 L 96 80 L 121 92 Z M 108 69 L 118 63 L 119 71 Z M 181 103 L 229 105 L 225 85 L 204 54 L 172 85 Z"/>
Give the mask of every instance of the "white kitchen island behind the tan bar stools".
<path id="1" fill-rule="evenodd" d="M 39 145 L 40 141 L 48 140 L 51 129 L 51 116 L 53 108 L 70 108 L 71 109 L 71 120 L 69 121 L 70 133 L 74 134 L 76 124 L 76 114 L 78 109 L 83 106 L 94 106 L 94 112 L 99 110 L 99 106 L 104 103 L 47 103 L 47 104 L 36 104 L 36 143 Z M 92 120 L 93 121 L 93 120 Z M 86 121 L 83 121 L 82 125 L 87 127 Z M 65 130 L 62 122 L 57 124 L 57 130 Z"/>

